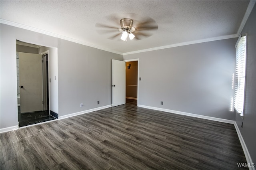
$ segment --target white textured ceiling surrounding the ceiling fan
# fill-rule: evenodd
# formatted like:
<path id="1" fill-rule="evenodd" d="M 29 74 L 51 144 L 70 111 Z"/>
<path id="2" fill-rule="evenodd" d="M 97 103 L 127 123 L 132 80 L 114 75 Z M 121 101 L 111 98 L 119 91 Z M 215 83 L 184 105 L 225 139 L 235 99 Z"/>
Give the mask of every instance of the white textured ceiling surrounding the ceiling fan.
<path id="1" fill-rule="evenodd" d="M 237 37 L 249 1 L 0 1 L 1 23 L 42 32 L 120 54 Z M 97 23 L 120 27 L 120 19 L 150 17 L 158 24 L 142 40 L 108 39 Z M 22 25 L 20 25 L 22 24 Z M 38 30 L 39 29 L 39 30 Z M 144 32 L 147 33 L 147 32 Z M 121 34 L 120 34 L 121 36 Z"/>

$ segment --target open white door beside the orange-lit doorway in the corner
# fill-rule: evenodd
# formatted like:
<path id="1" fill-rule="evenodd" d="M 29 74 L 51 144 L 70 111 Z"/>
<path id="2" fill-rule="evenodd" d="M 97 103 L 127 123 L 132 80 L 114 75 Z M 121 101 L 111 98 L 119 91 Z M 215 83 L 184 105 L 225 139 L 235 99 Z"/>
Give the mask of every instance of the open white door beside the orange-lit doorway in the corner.
<path id="1" fill-rule="evenodd" d="M 112 106 L 125 104 L 125 62 L 112 60 Z"/>

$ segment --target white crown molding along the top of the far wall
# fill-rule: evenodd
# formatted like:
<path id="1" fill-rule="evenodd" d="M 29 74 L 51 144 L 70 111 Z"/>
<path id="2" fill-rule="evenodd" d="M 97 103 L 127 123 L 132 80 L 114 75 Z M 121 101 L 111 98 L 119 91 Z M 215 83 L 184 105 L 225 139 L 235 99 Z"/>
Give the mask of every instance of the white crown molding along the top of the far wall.
<path id="1" fill-rule="evenodd" d="M 238 35 L 237 34 L 231 34 L 231 35 L 227 35 L 227 36 L 206 38 L 206 39 L 195 40 L 195 41 L 190 41 L 190 42 L 175 43 L 175 44 L 171 44 L 171 45 L 164 45 L 164 46 L 160 46 L 160 47 L 142 49 L 142 50 L 138 50 L 138 51 L 131 51 L 131 52 L 123 53 L 123 55 L 142 53 L 142 52 L 147 52 L 147 51 L 154 51 L 154 50 L 158 50 L 158 49 L 179 47 L 179 46 L 190 45 L 190 44 L 195 44 L 195 43 L 212 42 L 212 41 L 224 40 L 224 39 L 229 39 L 229 38 L 238 38 Z"/>

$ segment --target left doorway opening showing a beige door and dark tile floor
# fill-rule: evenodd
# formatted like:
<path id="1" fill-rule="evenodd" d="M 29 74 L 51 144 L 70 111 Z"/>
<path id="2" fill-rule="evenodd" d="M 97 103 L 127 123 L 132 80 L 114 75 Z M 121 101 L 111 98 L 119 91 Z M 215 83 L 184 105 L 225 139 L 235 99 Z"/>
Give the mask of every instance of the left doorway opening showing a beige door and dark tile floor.
<path id="1" fill-rule="evenodd" d="M 16 53 L 19 127 L 56 119 L 49 114 L 48 53 L 39 55 L 36 47 L 17 41 L 17 51 L 31 52 Z"/>

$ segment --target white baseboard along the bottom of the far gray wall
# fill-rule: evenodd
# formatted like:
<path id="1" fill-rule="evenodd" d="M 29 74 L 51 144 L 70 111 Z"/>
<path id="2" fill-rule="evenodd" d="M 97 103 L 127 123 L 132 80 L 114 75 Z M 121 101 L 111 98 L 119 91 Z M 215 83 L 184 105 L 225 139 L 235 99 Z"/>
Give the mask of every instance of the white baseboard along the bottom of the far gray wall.
<path id="1" fill-rule="evenodd" d="M 234 124 L 234 121 L 231 121 L 231 120 L 228 120 L 228 119 L 220 119 L 220 118 L 216 118 L 216 117 L 196 115 L 196 114 L 193 114 L 193 113 L 173 111 L 173 110 L 170 110 L 170 109 L 162 109 L 162 108 L 159 108 L 159 107 L 151 107 L 151 106 L 145 106 L 145 105 L 138 105 L 138 107 L 143 107 L 143 108 L 147 108 L 147 109 L 153 109 L 153 110 L 157 110 L 157 111 L 164 111 L 164 112 L 169 112 L 169 113 L 175 113 L 175 114 L 178 114 L 178 115 L 197 117 L 197 118 L 201 118 L 201 119 L 208 119 L 208 120 L 211 120 L 211 121 L 217 121 L 217 122 Z"/>

